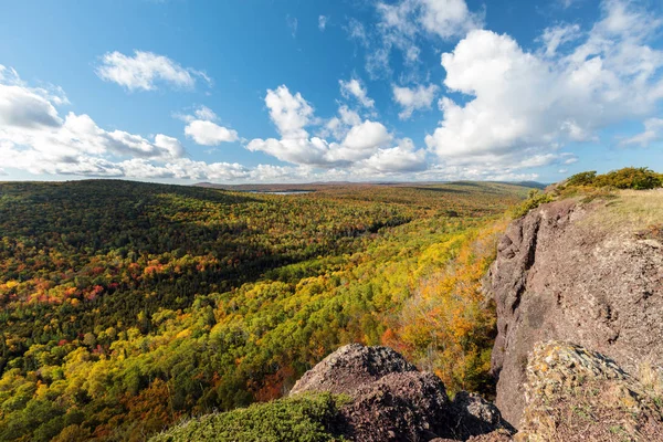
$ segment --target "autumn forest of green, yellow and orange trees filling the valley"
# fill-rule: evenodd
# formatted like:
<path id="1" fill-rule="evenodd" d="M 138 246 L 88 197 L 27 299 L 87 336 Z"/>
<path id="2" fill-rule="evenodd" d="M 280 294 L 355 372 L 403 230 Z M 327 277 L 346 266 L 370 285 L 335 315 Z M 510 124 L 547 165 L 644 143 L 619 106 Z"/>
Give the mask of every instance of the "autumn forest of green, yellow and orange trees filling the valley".
<path id="1" fill-rule="evenodd" d="M 491 394 L 481 278 L 526 186 L 0 183 L 0 440 L 144 441 L 347 343 Z"/>

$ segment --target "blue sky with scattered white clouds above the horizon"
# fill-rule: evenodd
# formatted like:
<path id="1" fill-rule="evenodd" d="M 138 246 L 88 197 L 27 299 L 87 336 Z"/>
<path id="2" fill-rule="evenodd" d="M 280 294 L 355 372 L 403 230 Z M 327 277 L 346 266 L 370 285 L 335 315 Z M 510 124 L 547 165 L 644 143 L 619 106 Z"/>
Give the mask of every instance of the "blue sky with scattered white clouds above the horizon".
<path id="1" fill-rule="evenodd" d="M 2 1 L 0 180 L 663 169 L 657 1 Z"/>

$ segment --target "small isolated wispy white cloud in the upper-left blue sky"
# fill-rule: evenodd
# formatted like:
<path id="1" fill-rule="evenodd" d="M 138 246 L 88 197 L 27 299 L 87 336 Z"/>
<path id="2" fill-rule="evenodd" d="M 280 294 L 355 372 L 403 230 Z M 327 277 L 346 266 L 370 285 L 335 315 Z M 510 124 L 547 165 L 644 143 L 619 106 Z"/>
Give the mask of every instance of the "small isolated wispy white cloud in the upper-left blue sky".
<path id="1" fill-rule="evenodd" d="M 154 91 L 164 83 L 175 87 L 192 88 L 197 78 L 211 83 L 203 72 L 182 67 L 167 56 L 152 52 L 135 51 L 134 56 L 117 51 L 102 57 L 96 74 L 99 78 L 117 83 L 129 91 Z"/>

